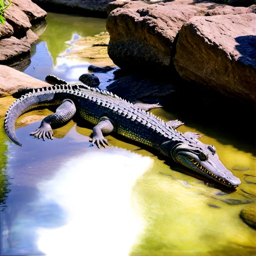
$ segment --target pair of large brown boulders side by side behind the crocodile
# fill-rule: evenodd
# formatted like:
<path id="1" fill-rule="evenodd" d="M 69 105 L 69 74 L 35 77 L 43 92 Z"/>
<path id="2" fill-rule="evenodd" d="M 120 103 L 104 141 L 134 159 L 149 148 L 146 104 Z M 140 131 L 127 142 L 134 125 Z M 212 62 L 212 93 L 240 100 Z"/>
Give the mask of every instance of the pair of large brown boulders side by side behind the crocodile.
<path id="1" fill-rule="evenodd" d="M 117 2 L 110 4 L 111 9 Z M 108 53 L 121 69 L 167 74 L 169 82 L 181 77 L 255 102 L 255 20 L 255 5 L 130 2 L 108 16 Z"/>

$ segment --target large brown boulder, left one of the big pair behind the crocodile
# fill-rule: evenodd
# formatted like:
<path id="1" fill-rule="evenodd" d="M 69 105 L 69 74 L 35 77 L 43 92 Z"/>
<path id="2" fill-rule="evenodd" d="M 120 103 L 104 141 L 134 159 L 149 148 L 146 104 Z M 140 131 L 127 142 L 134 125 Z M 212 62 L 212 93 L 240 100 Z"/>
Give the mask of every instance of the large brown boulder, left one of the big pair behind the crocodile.
<path id="1" fill-rule="evenodd" d="M 189 5 L 112 11 L 106 20 L 110 58 L 124 69 L 169 70 L 174 39 L 183 23 L 196 13 Z"/>

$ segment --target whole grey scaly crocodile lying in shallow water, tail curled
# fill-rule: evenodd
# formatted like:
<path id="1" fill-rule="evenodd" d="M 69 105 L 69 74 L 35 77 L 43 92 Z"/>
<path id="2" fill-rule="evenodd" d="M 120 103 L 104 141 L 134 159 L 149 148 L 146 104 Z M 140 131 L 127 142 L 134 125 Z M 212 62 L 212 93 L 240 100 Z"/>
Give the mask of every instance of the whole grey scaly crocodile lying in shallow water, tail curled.
<path id="1" fill-rule="evenodd" d="M 65 123 L 75 114 L 94 125 L 92 145 L 109 145 L 103 135 L 115 132 L 123 137 L 154 148 L 158 153 L 185 168 L 228 188 L 241 184 L 239 178 L 220 161 L 214 145 L 202 143 L 201 135 L 181 133 L 176 129 L 184 124 L 179 120 L 163 121 L 150 112 L 159 104 L 132 103 L 109 91 L 91 88 L 60 79 L 60 83 L 48 87 L 25 89 L 8 109 L 4 128 L 9 138 L 19 146 L 22 143 L 15 135 L 15 123 L 23 113 L 43 106 L 58 106 L 56 112 L 45 117 L 40 126 L 31 132 L 34 137 L 53 139 L 52 125 Z"/>

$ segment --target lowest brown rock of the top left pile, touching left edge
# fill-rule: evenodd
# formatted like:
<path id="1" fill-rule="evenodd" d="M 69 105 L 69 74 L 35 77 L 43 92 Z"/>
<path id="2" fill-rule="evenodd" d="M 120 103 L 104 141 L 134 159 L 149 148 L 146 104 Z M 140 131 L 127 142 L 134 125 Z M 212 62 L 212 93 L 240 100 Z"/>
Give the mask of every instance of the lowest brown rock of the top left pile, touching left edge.
<path id="1" fill-rule="evenodd" d="M 30 45 L 24 39 L 11 36 L 0 40 L 0 62 L 9 61 L 13 57 L 29 53 L 29 51 Z"/>

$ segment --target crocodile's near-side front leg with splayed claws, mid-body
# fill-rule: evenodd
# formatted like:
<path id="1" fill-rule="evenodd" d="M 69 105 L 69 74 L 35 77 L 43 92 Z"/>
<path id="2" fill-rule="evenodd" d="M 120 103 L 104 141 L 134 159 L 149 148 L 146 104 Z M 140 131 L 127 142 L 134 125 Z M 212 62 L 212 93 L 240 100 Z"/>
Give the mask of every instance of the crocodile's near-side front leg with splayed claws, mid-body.
<path id="1" fill-rule="evenodd" d="M 103 134 L 111 133 L 114 129 L 113 122 L 108 117 L 103 116 L 100 118 L 99 123 L 93 127 L 93 138 L 89 141 L 92 142 L 92 145 L 96 142 L 98 148 L 100 148 L 100 144 L 106 147 L 105 145 L 109 145 L 109 142 L 103 137 Z"/>

